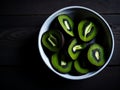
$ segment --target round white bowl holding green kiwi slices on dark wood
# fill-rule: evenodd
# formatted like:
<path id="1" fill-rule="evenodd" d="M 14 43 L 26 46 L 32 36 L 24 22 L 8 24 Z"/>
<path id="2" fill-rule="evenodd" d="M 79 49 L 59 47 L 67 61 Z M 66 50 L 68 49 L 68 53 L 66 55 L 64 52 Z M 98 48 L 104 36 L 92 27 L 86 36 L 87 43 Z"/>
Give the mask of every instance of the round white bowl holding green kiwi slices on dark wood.
<path id="1" fill-rule="evenodd" d="M 69 15 L 74 15 L 75 14 L 75 15 L 80 15 L 82 18 L 93 17 L 93 18 L 95 18 L 95 20 L 97 20 L 104 27 L 105 33 L 103 33 L 102 37 L 105 37 L 106 41 L 105 42 L 101 41 L 101 42 L 106 44 L 107 51 L 108 51 L 109 54 L 108 54 L 108 59 L 107 59 L 106 63 L 100 69 L 98 69 L 97 71 L 89 72 L 89 73 L 84 74 L 84 75 L 73 76 L 73 75 L 70 75 L 70 74 L 62 74 L 62 73 L 56 71 L 52 67 L 49 58 L 47 57 L 47 55 L 44 52 L 41 39 L 42 39 L 43 33 L 45 33 L 47 30 L 49 30 L 49 27 L 50 27 L 50 24 L 52 23 L 52 21 L 58 15 L 61 15 L 61 14 L 69 14 Z M 89 9 L 89 8 L 86 8 L 86 7 L 82 7 L 82 6 L 69 6 L 69 7 L 65 7 L 63 9 L 60 9 L 60 10 L 56 11 L 55 13 L 50 15 L 47 18 L 47 20 L 44 22 L 44 24 L 42 25 L 42 27 L 40 29 L 40 32 L 39 32 L 38 48 L 39 48 L 39 52 L 40 52 L 40 55 L 41 55 L 44 63 L 54 73 L 56 73 L 57 75 L 59 75 L 59 76 L 61 76 L 63 78 L 66 78 L 66 79 L 81 80 L 81 79 L 86 79 L 86 78 L 93 77 L 94 75 L 98 74 L 110 62 L 111 57 L 113 55 L 113 51 L 114 51 L 114 37 L 113 37 L 113 33 L 112 33 L 112 30 L 111 30 L 109 24 L 107 23 L 107 21 L 100 14 L 98 14 L 97 12 L 95 12 L 95 11 Z"/>

